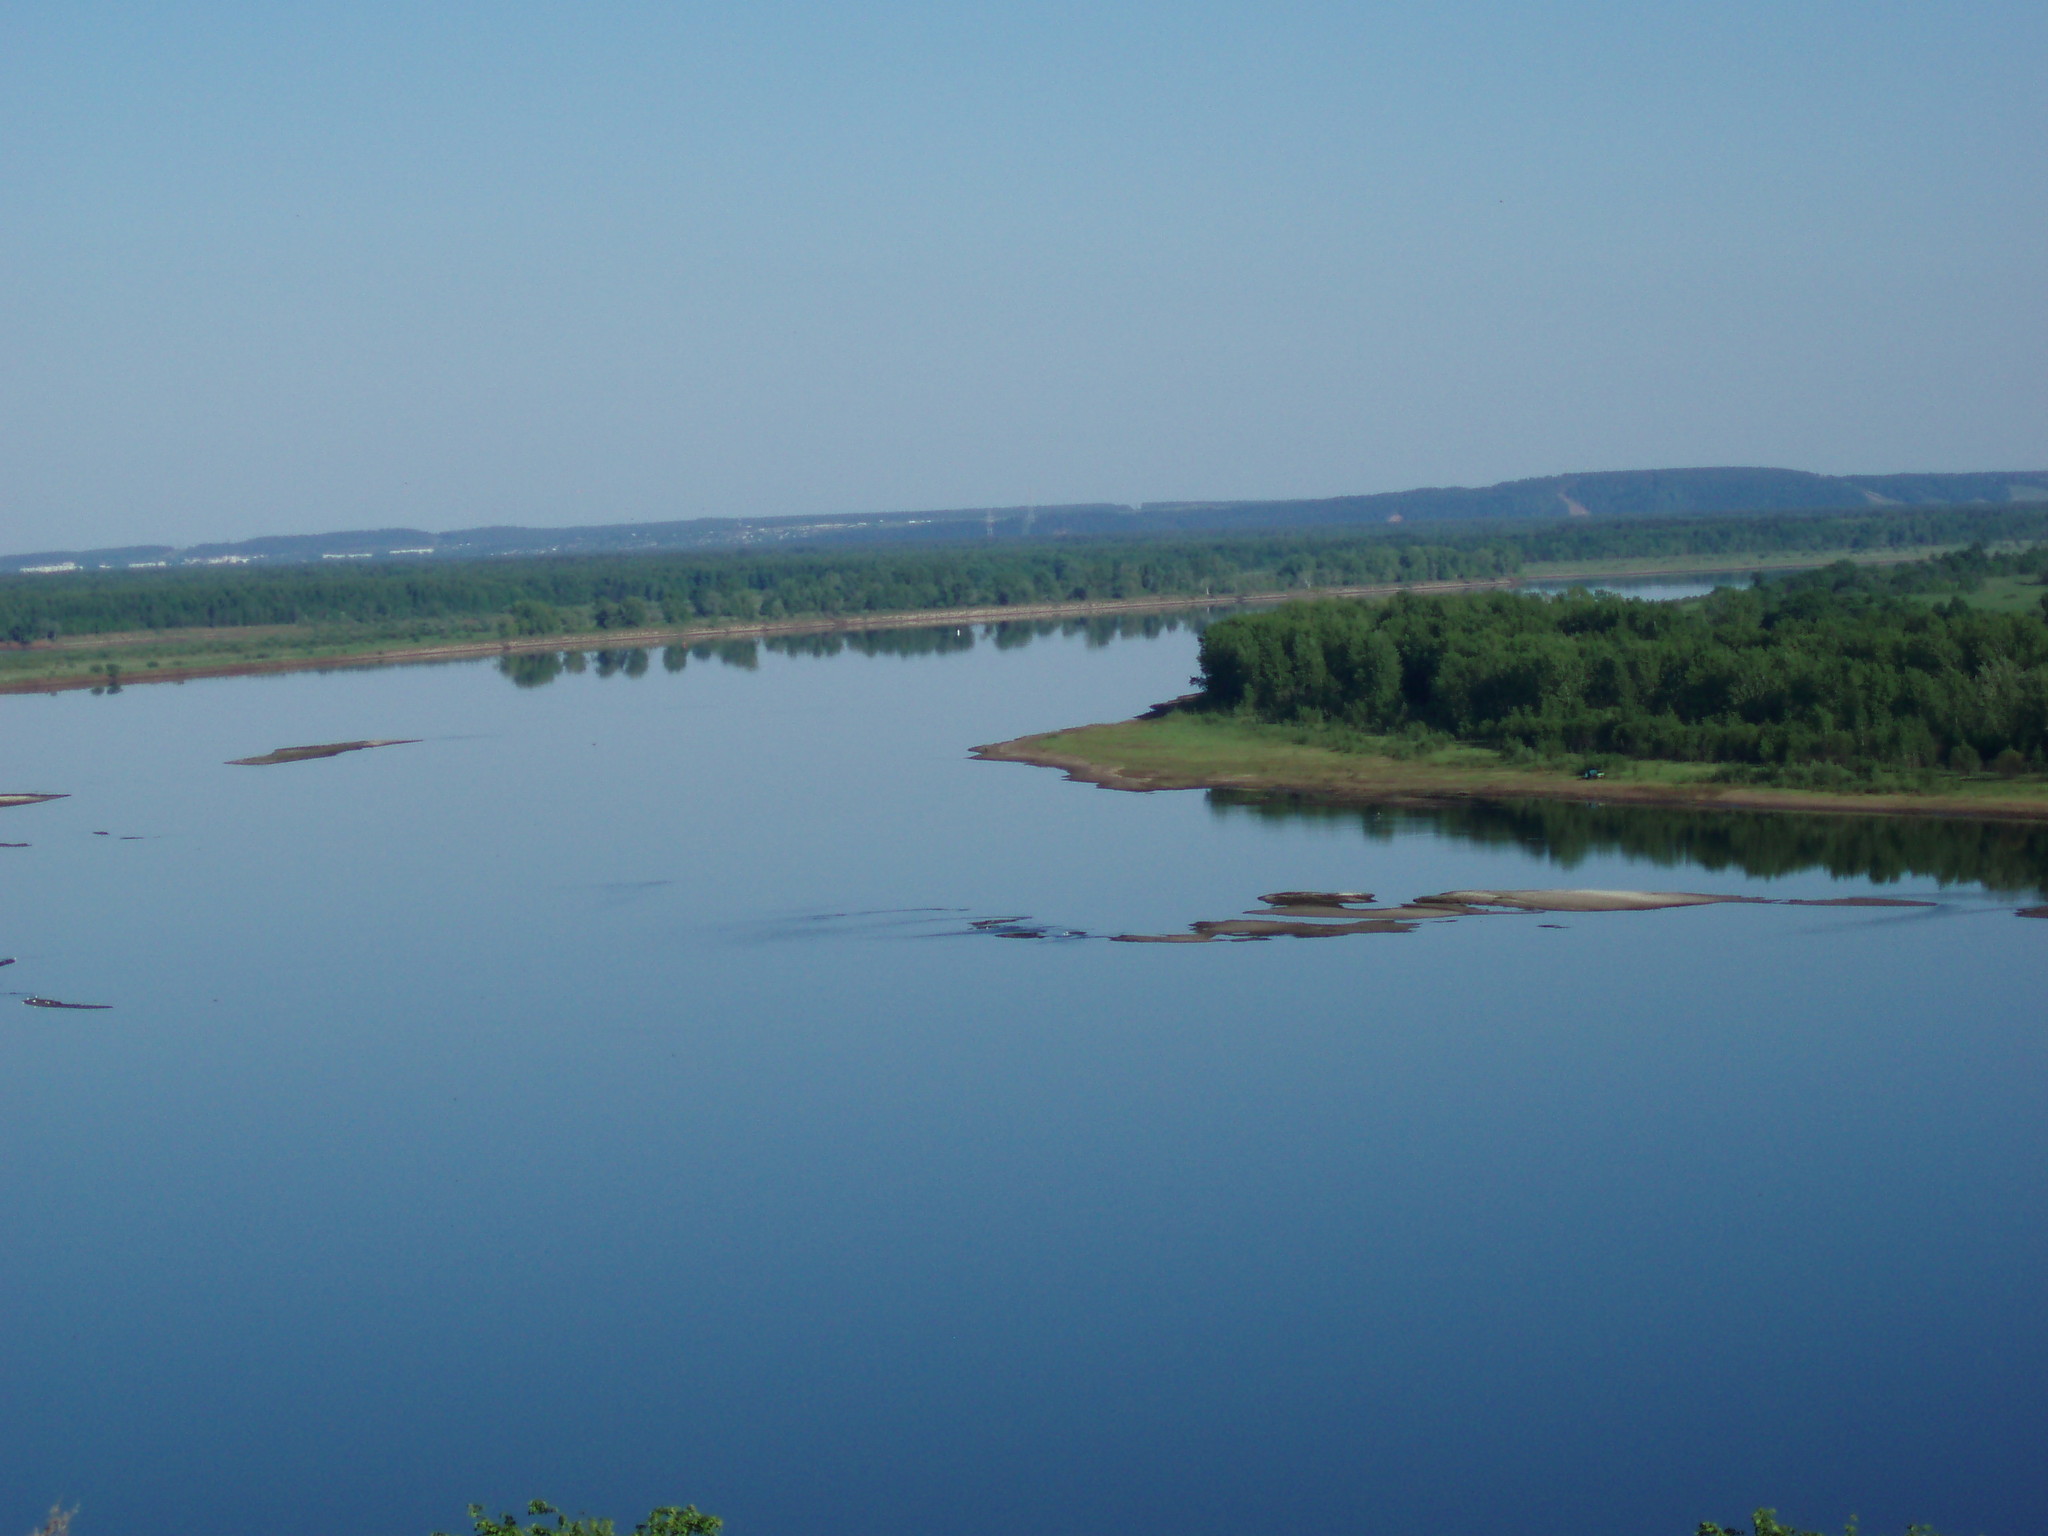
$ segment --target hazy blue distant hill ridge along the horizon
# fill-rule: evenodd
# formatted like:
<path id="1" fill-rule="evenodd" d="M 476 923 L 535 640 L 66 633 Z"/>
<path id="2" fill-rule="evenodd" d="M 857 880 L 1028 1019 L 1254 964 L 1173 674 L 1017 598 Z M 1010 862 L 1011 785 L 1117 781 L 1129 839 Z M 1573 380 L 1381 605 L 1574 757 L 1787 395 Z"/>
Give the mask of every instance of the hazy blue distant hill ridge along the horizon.
<path id="1" fill-rule="evenodd" d="M 686 518 L 590 528 L 367 528 L 223 545 L 0 555 L 0 571 L 96 571 L 188 565 L 297 565 L 319 559 L 477 559 L 610 555 L 657 549 L 846 547 L 1104 539 L 1176 532 L 1264 532 L 1444 520 L 1649 518 L 1714 512 L 1825 512 L 1872 506 L 2048 502 L 2048 469 L 1962 475 L 1812 475 L 1802 469 L 1610 469 L 1499 485 L 1444 485 L 1292 502 L 1145 502 L 1001 506 L 942 512 L 850 512 L 791 518 Z"/>

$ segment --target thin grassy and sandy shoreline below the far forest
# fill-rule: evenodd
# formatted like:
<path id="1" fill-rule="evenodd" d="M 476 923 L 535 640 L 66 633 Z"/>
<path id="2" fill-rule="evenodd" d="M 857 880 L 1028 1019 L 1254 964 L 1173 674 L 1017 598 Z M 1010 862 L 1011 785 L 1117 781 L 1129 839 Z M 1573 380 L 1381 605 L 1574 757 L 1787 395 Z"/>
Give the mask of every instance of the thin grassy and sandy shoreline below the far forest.
<path id="1" fill-rule="evenodd" d="M 1933 549 L 1767 553 L 1751 557 L 1698 555 L 1663 559 L 1606 559 L 1528 565 L 1520 575 L 1409 582 L 1376 586 L 1317 586 L 1243 592 L 1208 598 L 1198 592 L 1149 594 L 1143 598 L 1098 598 L 1087 602 L 1034 602 L 973 608 L 911 608 L 899 612 L 809 614 L 770 621 L 725 621 L 659 625 L 643 629 L 598 629 L 565 635 L 504 637 L 494 621 L 453 621 L 442 625 L 381 627 L 297 627 L 248 629 L 166 629 L 109 635 L 78 635 L 25 647 L 0 647 L 0 694 L 68 692 L 74 688 L 123 688 L 137 682 L 188 682 L 268 672 L 319 672 L 342 666 L 399 666 L 410 662 L 457 662 L 483 655 L 518 655 L 563 649 L 633 649 L 647 645 L 696 645 L 721 639 L 762 639 L 770 635 L 831 635 L 862 629 L 942 629 L 946 625 L 989 625 L 1036 618 L 1090 618 L 1116 612 L 1159 612 L 1184 608 L 1233 608 L 1290 602 L 1300 598 L 1384 598 L 1395 592 L 1454 594 L 1516 588 L 1528 582 L 1573 582 L 1612 578 L 1698 575 L 1729 569 L 1806 569 L 1829 559 L 1860 565 L 1894 565 L 1923 559 Z"/>

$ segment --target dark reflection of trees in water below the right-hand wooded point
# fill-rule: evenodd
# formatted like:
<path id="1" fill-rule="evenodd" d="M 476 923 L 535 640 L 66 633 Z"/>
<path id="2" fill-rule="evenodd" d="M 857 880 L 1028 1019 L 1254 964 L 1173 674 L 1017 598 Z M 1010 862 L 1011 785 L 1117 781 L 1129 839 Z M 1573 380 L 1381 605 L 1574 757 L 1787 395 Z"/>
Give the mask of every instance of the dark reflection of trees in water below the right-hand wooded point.
<path id="1" fill-rule="evenodd" d="M 1210 791 L 1208 803 L 1223 815 L 1354 821 L 1380 842 L 1403 829 L 1430 827 L 1464 842 L 1526 848 L 1565 868 L 1591 854 L 1626 854 L 1653 864 L 1735 868 L 1759 877 L 1821 868 L 1880 885 L 1917 877 L 2001 893 L 2048 893 L 2048 825 L 2025 821 L 1571 801 L 1358 809 L 1231 791 Z"/>

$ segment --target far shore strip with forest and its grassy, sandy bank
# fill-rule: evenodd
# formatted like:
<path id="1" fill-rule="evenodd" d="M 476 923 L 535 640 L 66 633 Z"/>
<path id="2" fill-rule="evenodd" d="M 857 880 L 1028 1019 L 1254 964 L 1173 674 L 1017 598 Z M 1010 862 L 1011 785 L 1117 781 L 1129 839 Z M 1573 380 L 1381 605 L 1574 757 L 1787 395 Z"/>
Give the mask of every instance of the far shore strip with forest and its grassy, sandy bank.
<path id="1" fill-rule="evenodd" d="M 510 557 L 0 578 L 0 688 L 616 643 L 625 635 L 973 621 L 1167 600 L 1507 584 L 1618 565 L 1776 565 L 2048 539 L 2048 506 L 1276 530 L 918 549 Z"/>

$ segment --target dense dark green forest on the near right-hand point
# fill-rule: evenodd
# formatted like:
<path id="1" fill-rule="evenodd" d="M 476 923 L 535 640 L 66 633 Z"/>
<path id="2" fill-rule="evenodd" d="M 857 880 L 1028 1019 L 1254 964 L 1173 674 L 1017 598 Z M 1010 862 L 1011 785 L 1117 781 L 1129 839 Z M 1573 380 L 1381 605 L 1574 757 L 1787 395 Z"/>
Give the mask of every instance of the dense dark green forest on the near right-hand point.
<path id="1" fill-rule="evenodd" d="M 1202 702 L 1274 723 L 1518 754 L 1743 764 L 1782 782 L 2048 766 L 2048 618 L 1960 588 L 2040 551 L 1849 563 L 1696 602 L 1294 602 L 1202 635 Z M 1948 586 L 1946 602 L 1915 596 Z"/>

